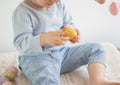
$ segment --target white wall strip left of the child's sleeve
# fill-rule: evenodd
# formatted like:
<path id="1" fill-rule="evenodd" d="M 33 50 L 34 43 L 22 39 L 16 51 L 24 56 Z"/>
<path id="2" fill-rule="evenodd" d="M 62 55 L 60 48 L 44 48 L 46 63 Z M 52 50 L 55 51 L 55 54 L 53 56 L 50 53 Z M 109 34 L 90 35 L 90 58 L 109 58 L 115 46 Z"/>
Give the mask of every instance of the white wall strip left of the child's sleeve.
<path id="1" fill-rule="evenodd" d="M 12 12 L 22 0 L 0 0 L 0 52 L 14 51 Z"/>

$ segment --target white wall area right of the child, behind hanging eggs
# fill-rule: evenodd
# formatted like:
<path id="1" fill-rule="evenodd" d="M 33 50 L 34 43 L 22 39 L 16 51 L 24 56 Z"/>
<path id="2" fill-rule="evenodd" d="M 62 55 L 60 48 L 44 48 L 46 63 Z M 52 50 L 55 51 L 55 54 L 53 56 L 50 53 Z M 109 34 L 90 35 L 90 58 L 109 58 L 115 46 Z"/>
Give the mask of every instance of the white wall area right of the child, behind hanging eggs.
<path id="1" fill-rule="evenodd" d="M 110 3 L 120 4 L 120 0 L 106 0 L 103 5 L 95 0 L 67 1 L 76 26 L 81 30 L 81 41 L 110 41 L 120 47 L 120 12 L 117 16 L 109 12 Z"/>

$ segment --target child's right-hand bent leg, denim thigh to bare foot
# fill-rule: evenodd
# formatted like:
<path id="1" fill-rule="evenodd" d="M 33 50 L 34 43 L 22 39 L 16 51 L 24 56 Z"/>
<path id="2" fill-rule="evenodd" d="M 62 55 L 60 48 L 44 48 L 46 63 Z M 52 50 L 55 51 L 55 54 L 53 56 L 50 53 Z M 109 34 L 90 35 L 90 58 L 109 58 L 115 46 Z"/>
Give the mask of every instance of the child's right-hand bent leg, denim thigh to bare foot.
<path id="1" fill-rule="evenodd" d="M 87 43 L 67 50 L 62 63 L 61 73 L 75 70 L 88 64 L 90 85 L 120 85 L 120 82 L 105 80 L 105 50 L 98 43 Z"/>

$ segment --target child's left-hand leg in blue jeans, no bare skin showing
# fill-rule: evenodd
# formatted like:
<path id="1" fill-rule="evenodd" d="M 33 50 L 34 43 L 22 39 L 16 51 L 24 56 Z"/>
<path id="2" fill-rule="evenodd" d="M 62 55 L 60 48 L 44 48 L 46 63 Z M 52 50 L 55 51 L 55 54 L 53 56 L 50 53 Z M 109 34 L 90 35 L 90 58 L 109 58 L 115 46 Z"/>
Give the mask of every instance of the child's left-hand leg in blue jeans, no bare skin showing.
<path id="1" fill-rule="evenodd" d="M 32 85 L 60 85 L 60 62 L 49 54 L 26 55 L 19 61 Z"/>

